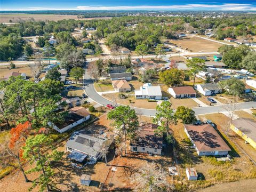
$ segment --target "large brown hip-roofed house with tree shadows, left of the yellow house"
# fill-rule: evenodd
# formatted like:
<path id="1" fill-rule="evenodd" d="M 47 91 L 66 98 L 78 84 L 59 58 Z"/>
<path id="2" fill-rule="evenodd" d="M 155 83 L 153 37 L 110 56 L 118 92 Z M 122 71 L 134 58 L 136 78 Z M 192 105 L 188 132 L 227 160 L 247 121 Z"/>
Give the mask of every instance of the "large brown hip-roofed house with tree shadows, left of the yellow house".
<path id="1" fill-rule="evenodd" d="M 185 133 L 193 143 L 196 153 L 199 156 L 224 156 L 228 155 L 228 151 L 231 151 L 227 143 L 220 137 L 212 125 L 186 124 L 184 127 Z"/>

